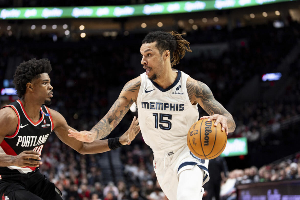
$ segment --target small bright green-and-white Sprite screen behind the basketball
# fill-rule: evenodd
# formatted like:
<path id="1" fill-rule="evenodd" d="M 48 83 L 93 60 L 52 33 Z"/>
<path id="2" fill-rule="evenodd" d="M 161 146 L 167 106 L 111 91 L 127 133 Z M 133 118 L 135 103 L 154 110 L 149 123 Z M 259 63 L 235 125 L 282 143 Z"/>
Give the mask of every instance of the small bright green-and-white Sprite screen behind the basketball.
<path id="1" fill-rule="evenodd" d="M 221 157 L 248 154 L 247 138 L 229 138 Z"/>

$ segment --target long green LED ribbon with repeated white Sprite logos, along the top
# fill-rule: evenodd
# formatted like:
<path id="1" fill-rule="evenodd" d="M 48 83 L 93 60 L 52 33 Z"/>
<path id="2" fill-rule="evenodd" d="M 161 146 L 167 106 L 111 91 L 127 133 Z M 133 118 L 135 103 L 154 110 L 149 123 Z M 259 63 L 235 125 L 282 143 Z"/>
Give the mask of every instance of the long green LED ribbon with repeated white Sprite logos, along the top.
<path id="1" fill-rule="evenodd" d="M 241 8 L 292 0 L 205 0 L 126 6 L 0 8 L 0 19 L 131 17 Z"/>

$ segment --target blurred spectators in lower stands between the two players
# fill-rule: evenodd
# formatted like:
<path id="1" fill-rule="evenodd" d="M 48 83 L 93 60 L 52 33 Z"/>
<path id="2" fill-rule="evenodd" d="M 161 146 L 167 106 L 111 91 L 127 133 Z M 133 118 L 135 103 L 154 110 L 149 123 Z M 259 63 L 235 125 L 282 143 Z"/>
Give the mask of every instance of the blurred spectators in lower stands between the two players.
<path id="1" fill-rule="evenodd" d="M 102 154 L 80 155 L 54 135 L 45 147 L 41 173 L 55 183 L 65 200 L 165 200 L 149 161 L 153 154 L 146 145 L 143 150 L 138 145 L 131 151 L 131 146 L 122 147 L 124 178 L 116 182 L 104 181 Z"/>

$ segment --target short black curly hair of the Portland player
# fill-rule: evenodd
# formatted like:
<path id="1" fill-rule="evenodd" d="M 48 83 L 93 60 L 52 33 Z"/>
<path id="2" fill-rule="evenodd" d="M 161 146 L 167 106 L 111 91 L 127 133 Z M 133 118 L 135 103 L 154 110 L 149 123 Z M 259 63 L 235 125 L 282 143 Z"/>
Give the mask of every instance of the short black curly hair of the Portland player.
<path id="1" fill-rule="evenodd" d="M 52 70 L 50 61 L 46 58 L 31 59 L 27 62 L 23 61 L 13 75 L 13 83 L 15 84 L 19 98 L 23 98 L 26 92 L 26 84 L 32 79 L 39 78 L 42 73 L 50 73 Z"/>

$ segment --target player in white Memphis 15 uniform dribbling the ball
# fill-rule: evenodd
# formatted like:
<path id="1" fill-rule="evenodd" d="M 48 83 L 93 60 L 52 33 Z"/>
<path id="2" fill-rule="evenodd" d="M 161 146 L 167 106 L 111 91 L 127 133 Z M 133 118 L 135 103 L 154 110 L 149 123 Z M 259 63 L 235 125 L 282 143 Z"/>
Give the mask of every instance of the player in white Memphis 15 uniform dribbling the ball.
<path id="1" fill-rule="evenodd" d="M 90 132 L 69 136 L 91 142 L 107 136 L 122 120 L 133 102 L 137 103 L 143 138 L 154 154 L 153 167 L 160 186 L 169 200 L 199 200 L 202 185 L 208 181 L 208 160 L 201 160 L 187 147 L 187 132 L 199 119 L 197 104 L 216 120 L 222 131 L 233 132 L 231 114 L 214 99 L 207 85 L 182 71 L 173 69 L 189 42 L 177 32 L 150 32 L 140 53 L 146 72 L 130 80 L 104 118 Z"/>

